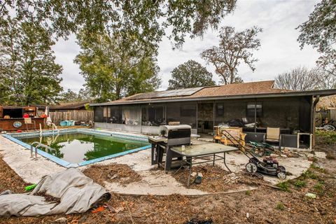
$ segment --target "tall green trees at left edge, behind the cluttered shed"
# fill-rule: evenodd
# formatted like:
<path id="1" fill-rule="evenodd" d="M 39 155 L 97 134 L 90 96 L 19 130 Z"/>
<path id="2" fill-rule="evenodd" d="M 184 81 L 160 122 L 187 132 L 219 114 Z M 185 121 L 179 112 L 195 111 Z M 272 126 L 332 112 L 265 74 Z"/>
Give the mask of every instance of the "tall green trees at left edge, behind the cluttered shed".
<path id="1" fill-rule="evenodd" d="M 62 66 L 55 63 L 48 32 L 33 23 L 0 20 L 0 43 L 0 103 L 55 102 Z"/>

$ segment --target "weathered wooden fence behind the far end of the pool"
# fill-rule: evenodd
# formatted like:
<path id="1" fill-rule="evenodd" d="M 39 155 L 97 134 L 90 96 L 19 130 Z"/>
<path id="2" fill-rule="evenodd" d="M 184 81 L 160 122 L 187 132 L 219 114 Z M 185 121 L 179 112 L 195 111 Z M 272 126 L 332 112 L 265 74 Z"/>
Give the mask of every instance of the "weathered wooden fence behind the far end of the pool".
<path id="1" fill-rule="evenodd" d="M 38 111 L 38 115 L 43 113 L 44 111 Z M 50 118 L 55 125 L 59 125 L 62 120 L 76 120 L 88 123 L 90 120 L 93 121 L 93 111 L 51 111 Z"/>

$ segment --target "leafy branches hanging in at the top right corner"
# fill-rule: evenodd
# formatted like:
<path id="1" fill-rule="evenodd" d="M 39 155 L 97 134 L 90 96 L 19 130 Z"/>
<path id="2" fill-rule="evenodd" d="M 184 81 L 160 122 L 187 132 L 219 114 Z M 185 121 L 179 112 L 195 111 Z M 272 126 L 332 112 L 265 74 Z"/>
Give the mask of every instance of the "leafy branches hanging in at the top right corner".
<path id="1" fill-rule="evenodd" d="M 321 53 L 317 64 L 325 72 L 336 76 L 336 1 L 322 0 L 317 3 L 309 19 L 297 29 L 300 36 L 297 41 L 311 45 Z"/>

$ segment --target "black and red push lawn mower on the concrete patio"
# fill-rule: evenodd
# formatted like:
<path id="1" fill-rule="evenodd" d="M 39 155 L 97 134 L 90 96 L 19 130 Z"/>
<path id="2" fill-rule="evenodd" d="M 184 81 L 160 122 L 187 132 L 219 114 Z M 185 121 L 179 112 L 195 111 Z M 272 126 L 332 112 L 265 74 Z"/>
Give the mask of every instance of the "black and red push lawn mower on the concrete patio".
<path id="1" fill-rule="evenodd" d="M 259 172 L 262 174 L 268 174 L 272 176 L 277 176 L 279 179 L 286 179 L 286 168 L 283 166 L 279 166 L 279 162 L 276 161 L 276 159 L 267 157 L 264 158 L 262 161 L 259 160 L 253 153 L 250 153 L 245 146 L 242 146 L 235 137 L 230 134 L 230 132 L 223 130 L 228 134 L 230 138 L 228 138 L 232 144 L 239 144 L 239 150 L 246 155 L 248 158 L 248 163 L 246 164 L 246 171 L 254 174 L 255 172 Z M 235 141 L 232 141 L 234 139 Z M 245 149 L 245 151 L 242 150 L 242 148 Z M 246 153 L 248 152 L 248 153 Z M 249 154 L 249 155 L 248 155 Z"/>

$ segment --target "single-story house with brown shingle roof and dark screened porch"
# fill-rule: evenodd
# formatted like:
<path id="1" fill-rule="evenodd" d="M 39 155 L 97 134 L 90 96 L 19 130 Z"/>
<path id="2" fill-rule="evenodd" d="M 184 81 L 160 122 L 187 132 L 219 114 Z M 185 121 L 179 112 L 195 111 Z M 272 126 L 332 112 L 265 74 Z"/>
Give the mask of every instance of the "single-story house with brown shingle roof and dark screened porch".
<path id="1" fill-rule="evenodd" d="M 314 134 L 318 99 L 332 94 L 336 90 L 281 90 L 267 80 L 145 92 L 90 106 L 95 127 L 143 134 L 158 134 L 159 126 L 170 121 L 190 125 L 195 134 L 208 133 L 232 120 L 257 124 L 244 127 L 244 132 L 280 127 L 282 134 Z"/>

